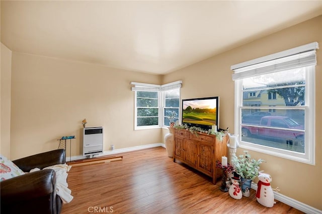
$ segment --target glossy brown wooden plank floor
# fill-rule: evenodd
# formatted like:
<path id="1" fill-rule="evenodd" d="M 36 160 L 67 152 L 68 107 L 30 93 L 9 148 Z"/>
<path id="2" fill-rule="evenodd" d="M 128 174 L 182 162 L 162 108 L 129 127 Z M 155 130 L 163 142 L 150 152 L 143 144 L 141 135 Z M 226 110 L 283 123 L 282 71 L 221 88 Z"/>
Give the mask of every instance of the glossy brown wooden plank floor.
<path id="1" fill-rule="evenodd" d="M 81 213 L 303 213 L 282 202 L 268 208 L 250 197 L 233 199 L 207 177 L 174 163 L 163 147 L 118 155 L 123 160 L 73 166 L 68 187 L 74 196 L 62 214 Z M 96 211 L 95 211 L 96 210 Z"/>

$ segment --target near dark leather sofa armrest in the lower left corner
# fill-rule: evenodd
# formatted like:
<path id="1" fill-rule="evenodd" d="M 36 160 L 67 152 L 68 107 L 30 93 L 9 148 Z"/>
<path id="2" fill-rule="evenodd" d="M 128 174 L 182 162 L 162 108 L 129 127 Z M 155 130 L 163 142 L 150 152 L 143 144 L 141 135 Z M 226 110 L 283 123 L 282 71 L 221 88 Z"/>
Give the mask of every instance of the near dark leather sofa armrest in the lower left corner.
<path id="1" fill-rule="evenodd" d="M 1 182 L 1 206 L 18 201 L 56 195 L 56 173 L 53 169 L 26 173 Z M 49 196 L 51 197 L 51 196 Z"/>

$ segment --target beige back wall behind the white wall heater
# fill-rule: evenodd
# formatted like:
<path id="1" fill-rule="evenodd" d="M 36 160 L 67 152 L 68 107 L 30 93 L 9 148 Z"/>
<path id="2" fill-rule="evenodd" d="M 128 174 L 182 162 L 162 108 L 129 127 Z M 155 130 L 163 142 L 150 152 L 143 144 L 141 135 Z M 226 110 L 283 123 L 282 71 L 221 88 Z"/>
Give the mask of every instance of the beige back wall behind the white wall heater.
<path id="1" fill-rule="evenodd" d="M 76 136 L 71 156 L 82 155 L 84 118 L 105 128 L 104 151 L 163 141 L 159 129 L 134 131 L 130 88 L 159 84 L 159 76 L 15 52 L 12 59 L 12 159 L 56 149 L 65 135 Z"/>

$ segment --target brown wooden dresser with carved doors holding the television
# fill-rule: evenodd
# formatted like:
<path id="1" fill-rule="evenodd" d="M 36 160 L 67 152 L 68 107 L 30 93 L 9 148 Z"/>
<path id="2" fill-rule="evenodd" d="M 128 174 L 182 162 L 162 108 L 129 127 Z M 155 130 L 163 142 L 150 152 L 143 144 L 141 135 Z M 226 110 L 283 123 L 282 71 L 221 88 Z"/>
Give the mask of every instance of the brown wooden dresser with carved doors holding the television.
<path id="1" fill-rule="evenodd" d="M 221 161 L 222 156 L 227 156 L 227 138 L 226 135 L 219 141 L 215 135 L 175 129 L 173 161 L 180 160 L 209 175 L 215 184 L 222 175 L 222 170 L 216 168 L 216 160 Z"/>

